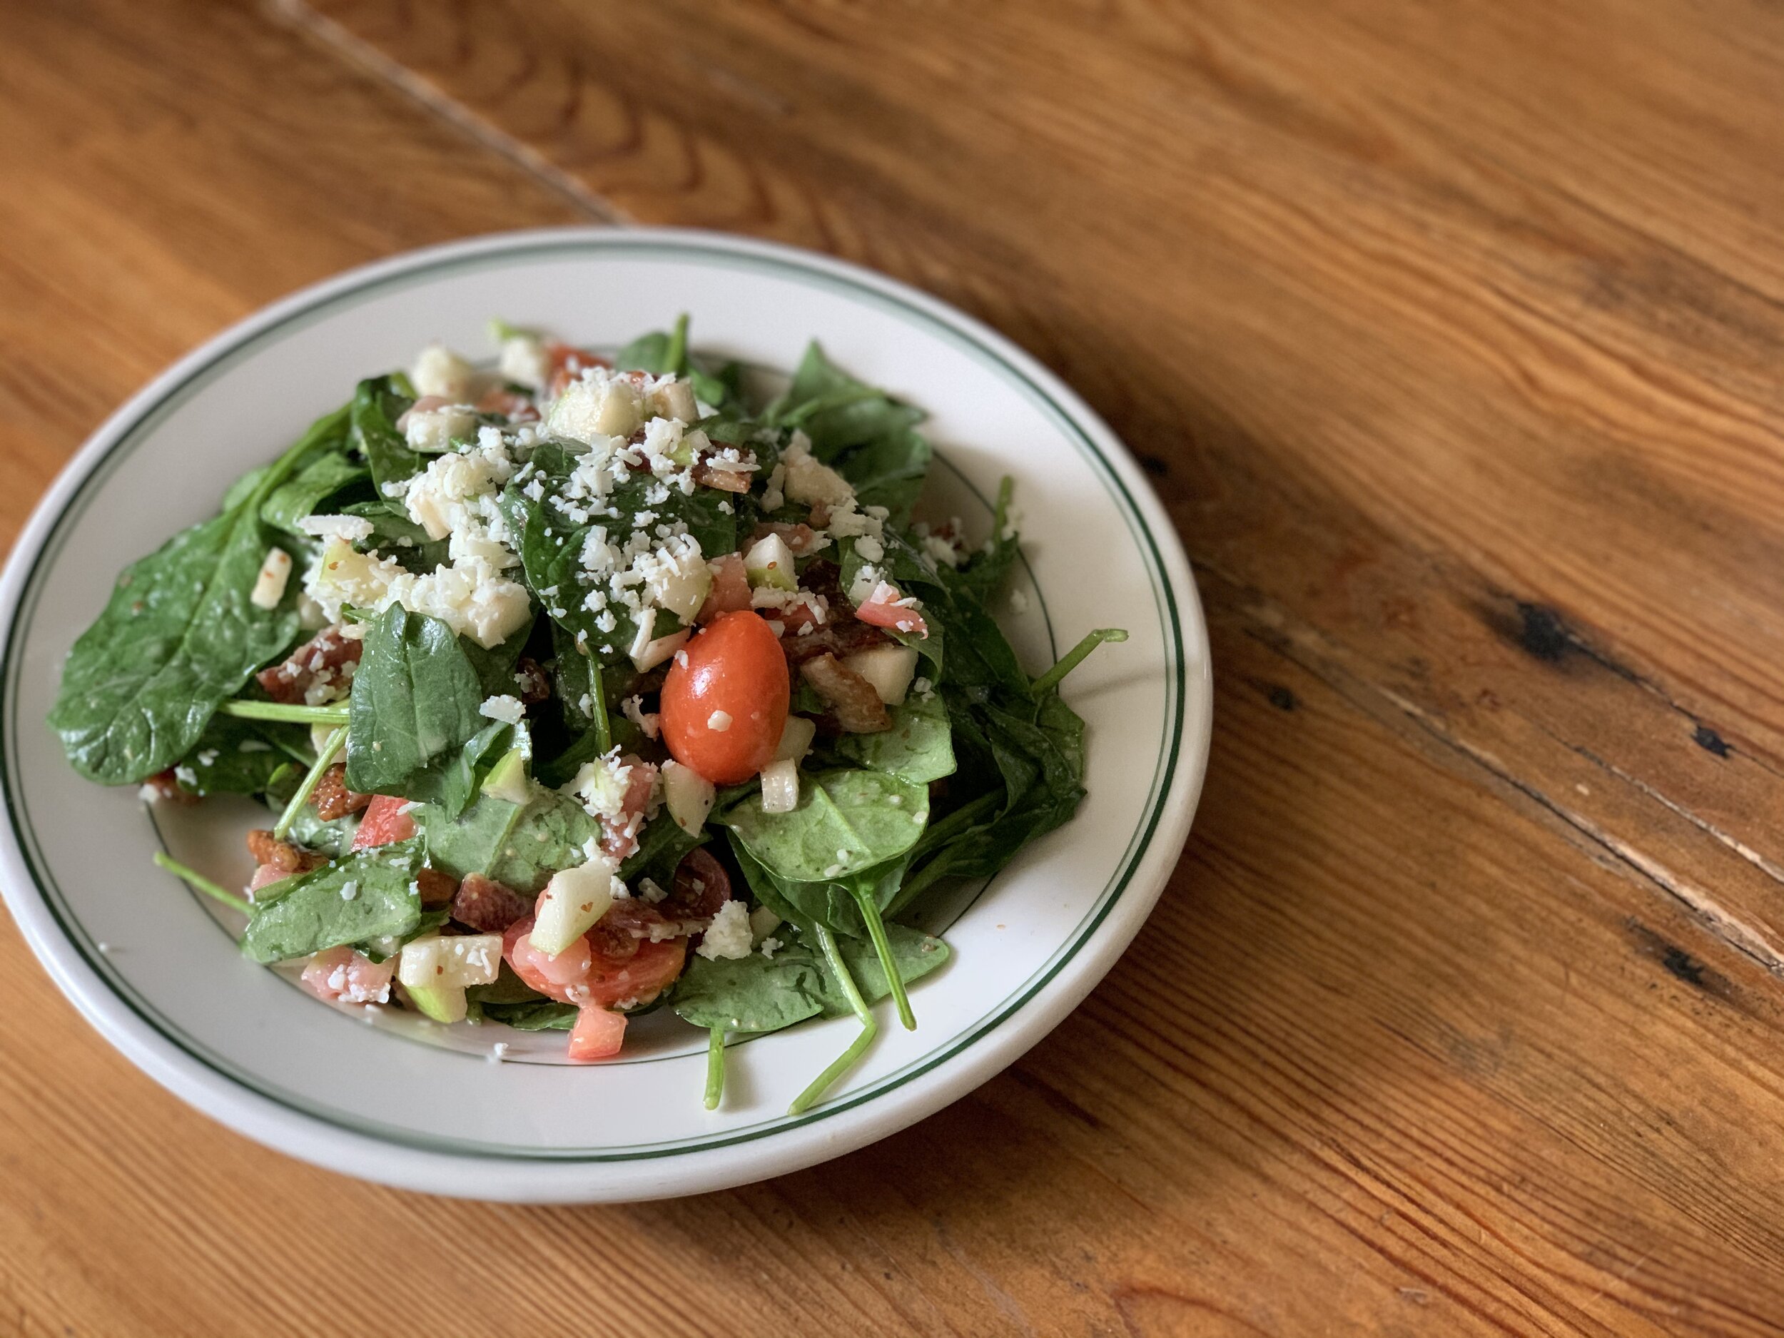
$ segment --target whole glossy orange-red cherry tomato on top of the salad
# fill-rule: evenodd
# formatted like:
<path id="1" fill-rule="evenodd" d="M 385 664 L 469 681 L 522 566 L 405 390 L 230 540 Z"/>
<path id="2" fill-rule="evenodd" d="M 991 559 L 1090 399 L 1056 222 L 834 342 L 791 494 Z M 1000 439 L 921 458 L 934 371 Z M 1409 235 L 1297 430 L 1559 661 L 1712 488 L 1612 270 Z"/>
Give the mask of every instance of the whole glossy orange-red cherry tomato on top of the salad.
<path id="1" fill-rule="evenodd" d="M 746 781 L 774 760 L 790 692 L 769 624 L 758 614 L 719 614 L 669 665 L 664 744 L 714 785 Z"/>

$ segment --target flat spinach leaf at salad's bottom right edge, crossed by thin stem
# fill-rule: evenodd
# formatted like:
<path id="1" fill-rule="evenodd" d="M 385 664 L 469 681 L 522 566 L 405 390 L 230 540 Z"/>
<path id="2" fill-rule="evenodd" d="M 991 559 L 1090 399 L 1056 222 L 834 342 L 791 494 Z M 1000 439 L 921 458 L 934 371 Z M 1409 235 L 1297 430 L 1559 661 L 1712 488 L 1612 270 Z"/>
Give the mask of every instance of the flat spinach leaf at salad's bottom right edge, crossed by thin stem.
<path id="1" fill-rule="evenodd" d="M 762 953 L 717 962 L 690 956 L 669 1001 L 674 1012 L 694 1026 L 726 1031 L 780 1031 L 808 1017 L 847 1017 L 853 1010 L 824 954 L 799 929 L 778 929 L 776 937 L 783 937 L 785 944 L 772 958 Z M 928 976 L 947 962 L 947 944 L 940 938 L 903 924 L 888 924 L 887 938 L 904 981 Z M 892 992 L 872 944 L 842 938 L 837 946 L 869 1003 Z"/>

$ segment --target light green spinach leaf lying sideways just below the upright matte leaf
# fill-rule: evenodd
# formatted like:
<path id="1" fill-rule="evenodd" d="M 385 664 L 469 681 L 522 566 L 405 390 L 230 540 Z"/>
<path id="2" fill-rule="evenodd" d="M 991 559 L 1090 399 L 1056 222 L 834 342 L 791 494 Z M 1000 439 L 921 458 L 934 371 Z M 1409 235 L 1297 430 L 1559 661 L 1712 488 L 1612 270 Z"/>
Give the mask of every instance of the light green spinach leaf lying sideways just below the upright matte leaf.
<path id="1" fill-rule="evenodd" d="M 537 790 L 526 806 L 482 796 L 457 819 L 439 805 L 410 814 L 428 860 L 453 878 L 485 874 L 532 896 L 558 869 L 583 863 L 585 846 L 601 838 L 601 824 L 580 803 L 557 790 Z"/>

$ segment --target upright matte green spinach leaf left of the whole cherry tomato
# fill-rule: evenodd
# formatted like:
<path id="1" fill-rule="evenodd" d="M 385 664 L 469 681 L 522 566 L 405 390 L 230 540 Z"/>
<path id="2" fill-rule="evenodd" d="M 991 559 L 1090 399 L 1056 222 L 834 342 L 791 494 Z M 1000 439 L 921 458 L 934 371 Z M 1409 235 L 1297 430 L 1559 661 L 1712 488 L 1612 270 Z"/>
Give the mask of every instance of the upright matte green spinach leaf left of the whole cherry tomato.
<path id="1" fill-rule="evenodd" d="M 346 783 L 362 794 L 437 797 L 430 769 L 489 721 L 458 637 L 435 617 L 391 605 L 366 633 L 348 706 Z M 421 794 L 416 794 L 421 790 Z"/>

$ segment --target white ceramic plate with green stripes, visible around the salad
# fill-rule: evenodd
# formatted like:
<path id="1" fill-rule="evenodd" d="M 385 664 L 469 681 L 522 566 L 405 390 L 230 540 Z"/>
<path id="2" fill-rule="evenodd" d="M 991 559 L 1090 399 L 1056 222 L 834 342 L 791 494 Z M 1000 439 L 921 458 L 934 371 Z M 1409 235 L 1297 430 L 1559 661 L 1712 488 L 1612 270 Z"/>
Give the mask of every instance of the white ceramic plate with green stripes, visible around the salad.
<path id="1" fill-rule="evenodd" d="M 360 376 L 407 366 L 430 339 L 482 351 L 491 316 L 610 346 L 683 310 L 703 353 L 790 368 L 817 337 L 849 371 L 929 410 L 940 505 L 979 533 L 981 498 L 1015 475 L 1031 607 L 1001 615 L 1031 669 L 1092 626 L 1133 633 L 1067 680 L 1090 740 L 1078 819 L 951 908 L 963 910 L 947 935 L 954 960 L 913 988 L 919 1029 L 903 1031 L 881 1004 L 867 1060 L 801 1117 L 787 1103 L 847 1044 L 853 1020 L 733 1047 L 724 1104 L 706 1111 L 705 1037 L 673 1017 L 640 1019 L 623 1061 L 571 1067 L 487 1061 L 496 1028 L 318 1004 L 246 963 L 211 904 L 150 865 L 162 819 L 177 855 L 243 881 L 248 810 L 212 801 L 169 824 L 169 810 L 150 812 L 134 790 L 80 780 L 45 724 L 62 657 L 118 569 L 212 514 L 230 480 Z M 455 243 L 243 321 L 73 458 L 12 553 L 0 628 L 0 865 L 12 915 L 57 985 L 145 1072 L 230 1127 L 353 1176 L 482 1199 L 696 1193 L 808 1167 L 940 1110 L 1040 1040 L 1127 946 L 1188 835 L 1208 753 L 1195 585 L 1108 426 L 935 298 L 821 255 L 699 232 Z M 562 1037 L 533 1044 L 539 1060 L 560 1047 Z"/>

